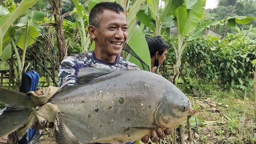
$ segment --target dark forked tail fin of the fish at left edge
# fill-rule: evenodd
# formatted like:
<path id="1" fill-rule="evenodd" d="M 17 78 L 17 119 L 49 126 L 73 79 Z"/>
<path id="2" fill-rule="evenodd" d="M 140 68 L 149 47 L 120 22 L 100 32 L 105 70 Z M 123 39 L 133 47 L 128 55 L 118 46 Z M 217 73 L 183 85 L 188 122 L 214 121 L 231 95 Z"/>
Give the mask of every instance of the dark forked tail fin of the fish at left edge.
<path id="1" fill-rule="evenodd" d="M 0 138 L 24 126 L 32 112 L 31 98 L 21 92 L 0 88 L 0 103 L 6 109 L 0 115 Z"/>

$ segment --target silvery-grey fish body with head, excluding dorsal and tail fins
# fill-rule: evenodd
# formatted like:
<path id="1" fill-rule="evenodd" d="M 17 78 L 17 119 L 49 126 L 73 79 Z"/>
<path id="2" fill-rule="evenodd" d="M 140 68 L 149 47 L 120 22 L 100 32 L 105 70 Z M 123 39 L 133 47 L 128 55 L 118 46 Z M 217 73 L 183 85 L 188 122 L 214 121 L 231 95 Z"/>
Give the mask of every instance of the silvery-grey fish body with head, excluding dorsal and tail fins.
<path id="1" fill-rule="evenodd" d="M 62 89 L 50 101 L 72 141 L 139 140 L 147 126 L 174 128 L 191 114 L 190 100 L 171 82 L 146 71 L 114 71 Z"/>

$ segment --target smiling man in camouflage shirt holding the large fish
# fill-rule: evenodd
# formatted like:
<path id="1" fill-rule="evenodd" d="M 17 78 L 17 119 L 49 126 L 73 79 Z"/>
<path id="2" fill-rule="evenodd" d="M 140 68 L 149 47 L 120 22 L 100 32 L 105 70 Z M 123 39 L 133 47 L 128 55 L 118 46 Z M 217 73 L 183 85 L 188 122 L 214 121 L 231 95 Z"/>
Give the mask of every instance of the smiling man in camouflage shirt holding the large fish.
<path id="1" fill-rule="evenodd" d="M 134 63 L 123 59 L 119 54 L 127 40 L 127 22 L 124 9 L 117 3 L 102 2 L 96 4 L 89 15 L 88 32 L 95 41 L 95 49 L 92 52 L 74 54 L 66 57 L 60 64 L 59 87 L 68 87 L 76 84 L 78 70 L 80 68 L 97 67 L 109 69 L 137 69 Z M 40 94 L 41 95 L 41 94 Z M 170 129 L 157 128 L 152 130 L 151 135 L 142 138 L 148 143 L 149 138 L 157 142 L 169 135 Z"/>

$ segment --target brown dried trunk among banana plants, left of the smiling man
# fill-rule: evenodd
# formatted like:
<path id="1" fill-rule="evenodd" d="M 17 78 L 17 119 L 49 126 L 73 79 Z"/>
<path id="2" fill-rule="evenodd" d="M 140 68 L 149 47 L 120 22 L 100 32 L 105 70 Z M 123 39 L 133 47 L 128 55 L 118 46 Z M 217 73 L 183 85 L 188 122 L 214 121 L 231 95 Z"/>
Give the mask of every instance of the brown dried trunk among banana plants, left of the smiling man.
<path id="1" fill-rule="evenodd" d="M 58 43 L 58 61 L 59 63 L 62 62 L 64 57 L 68 55 L 67 48 L 65 44 L 65 36 L 63 32 L 63 16 L 61 15 L 62 11 L 62 1 L 61 0 L 50 0 L 51 7 L 53 8 L 53 15 L 55 19 L 55 31 L 57 36 L 57 43 Z"/>

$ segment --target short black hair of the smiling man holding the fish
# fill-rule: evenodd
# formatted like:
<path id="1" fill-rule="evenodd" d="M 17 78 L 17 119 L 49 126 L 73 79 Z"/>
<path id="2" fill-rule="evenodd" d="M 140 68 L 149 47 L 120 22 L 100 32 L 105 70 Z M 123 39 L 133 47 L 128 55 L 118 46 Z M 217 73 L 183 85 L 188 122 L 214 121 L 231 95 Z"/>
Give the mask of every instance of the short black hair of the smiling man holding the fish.
<path id="1" fill-rule="evenodd" d="M 112 10 L 118 14 L 124 13 L 124 9 L 118 3 L 112 2 L 100 2 L 96 4 L 89 14 L 89 25 L 99 28 L 100 21 L 102 19 L 103 10 Z"/>

